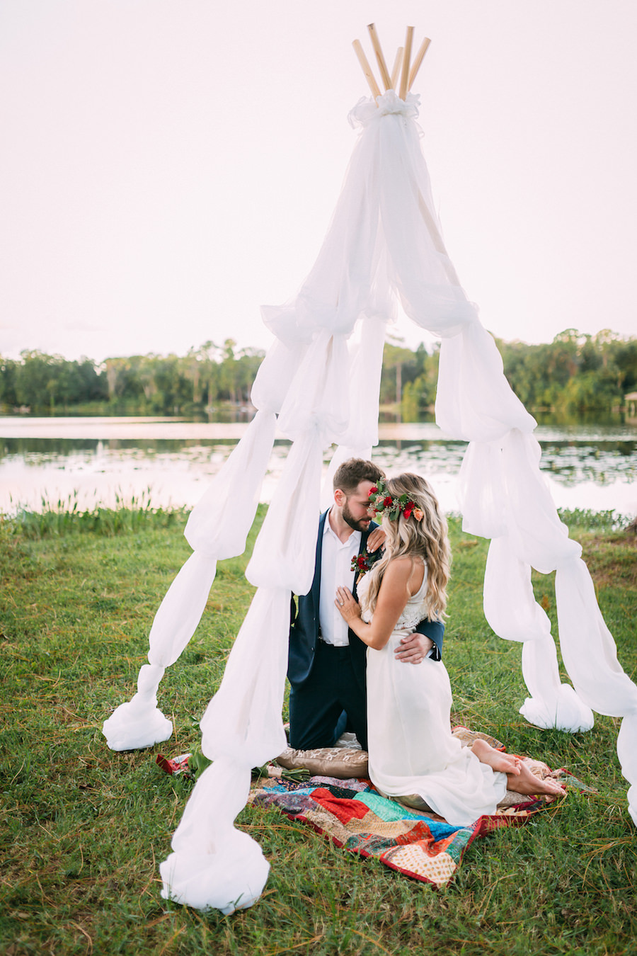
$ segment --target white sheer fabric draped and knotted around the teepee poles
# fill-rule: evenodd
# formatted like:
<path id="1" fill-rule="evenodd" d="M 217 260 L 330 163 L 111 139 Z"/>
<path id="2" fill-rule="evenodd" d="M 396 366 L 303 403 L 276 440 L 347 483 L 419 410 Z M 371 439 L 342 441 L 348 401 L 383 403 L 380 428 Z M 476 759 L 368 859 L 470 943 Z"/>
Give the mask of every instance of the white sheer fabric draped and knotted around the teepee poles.
<path id="1" fill-rule="evenodd" d="M 159 608 L 147 686 L 107 722 L 117 717 L 111 746 L 111 739 L 127 739 L 129 724 L 128 739 L 141 738 L 144 707 L 149 728 L 157 723 L 162 668 L 189 640 L 217 558 L 244 550 L 278 416 L 292 446 L 247 569 L 258 591 L 202 719 L 202 750 L 215 762 L 197 783 L 173 853 L 160 867 L 163 895 L 200 908 L 250 905 L 265 884 L 267 863 L 233 820 L 250 768 L 285 746 L 289 595 L 307 593 L 312 579 L 323 451 L 338 445 L 337 462 L 369 455 L 377 442 L 384 328 L 396 295 L 414 322 L 443 339 L 436 420 L 469 442 L 460 475 L 464 527 L 492 539 L 485 614 L 501 637 L 523 642 L 531 696 L 522 712 L 540 727 L 567 730 L 591 727 L 591 707 L 625 717 L 620 759 L 637 782 L 637 688 L 617 663 L 581 549 L 568 539 L 542 479 L 535 421 L 504 378 L 494 340 L 445 250 L 414 121 L 417 104 L 411 94 L 403 102 L 390 91 L 352 110 L 350 122 L 362 132 L 317 261 L 293 301 L 263 309 L 276 341 L 252 391 L 260 411 L 188 521 L 194 554 Z M 557 570 L 563 661 L 576 689 L 560 680 L 550 622 L 533 597 L 532 567 Z M 154 733 L 149 729 L 148 743 Z M 635 790 L 628 797 L 637 823 Z"/>

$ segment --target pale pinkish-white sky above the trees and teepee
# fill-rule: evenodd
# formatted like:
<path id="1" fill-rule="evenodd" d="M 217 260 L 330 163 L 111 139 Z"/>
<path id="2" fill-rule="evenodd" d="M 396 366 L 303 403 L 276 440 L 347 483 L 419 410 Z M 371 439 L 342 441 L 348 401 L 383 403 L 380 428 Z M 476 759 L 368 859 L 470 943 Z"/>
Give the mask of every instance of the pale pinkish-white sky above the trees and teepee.
<path id="1" fill-rule="evenodd" d="M 368 87 L 414 92 L 484 325 L 637 335 L 634 0 L 0 0 L 0 354 L 271 342 L 318 253 Z M 415 345 L 422 334 L 398 329 Z"/>

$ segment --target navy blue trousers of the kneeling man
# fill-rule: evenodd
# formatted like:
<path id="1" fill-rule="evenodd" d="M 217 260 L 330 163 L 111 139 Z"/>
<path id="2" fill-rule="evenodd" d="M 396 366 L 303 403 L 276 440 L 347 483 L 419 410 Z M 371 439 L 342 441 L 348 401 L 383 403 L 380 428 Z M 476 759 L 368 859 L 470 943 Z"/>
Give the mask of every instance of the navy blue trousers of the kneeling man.
<path id="1" fill-rule="evenodd" d="M 365 687 L 356 680 L 350 648 L 316 642 L 308 680 L 289 693 L 289 746 L 294 750 L 333 747 L 346 728 L 367 750 Z"/>

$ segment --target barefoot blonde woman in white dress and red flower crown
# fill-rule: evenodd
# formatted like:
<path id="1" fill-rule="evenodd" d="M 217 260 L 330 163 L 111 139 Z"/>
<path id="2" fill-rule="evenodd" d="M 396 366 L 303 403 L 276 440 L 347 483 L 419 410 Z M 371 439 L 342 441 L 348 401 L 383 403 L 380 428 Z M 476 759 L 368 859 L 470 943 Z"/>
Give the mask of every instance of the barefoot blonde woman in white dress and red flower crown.
<path id="1" fill-rule="evenodd" d="M 424 478 L 402 474 L 370 492 L 382 514 L 385 554 L 358 583 L 360 605 L 338 588 L 336 606 L 368 645 L 369 772 L 387 796 L 423 803 L 448 823 L 466 825 L 494 814 L 507 789 L 563 794 L 519 757 L 486 741 L 462 747 L 451 733 L 452 693 L 441 661 L 396 665 L 393 651 L 419 620 L 442 619 L 450 551 L 447 523 Z M 418 801 L 419 798 L 419 801 Z"/>

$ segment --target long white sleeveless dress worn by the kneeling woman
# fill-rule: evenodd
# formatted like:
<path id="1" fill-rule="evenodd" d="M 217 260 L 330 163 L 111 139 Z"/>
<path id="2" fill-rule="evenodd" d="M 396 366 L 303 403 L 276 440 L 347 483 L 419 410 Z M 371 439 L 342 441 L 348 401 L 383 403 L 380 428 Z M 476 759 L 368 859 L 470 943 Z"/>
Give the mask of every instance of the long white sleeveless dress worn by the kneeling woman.
<path id="1" fill-rule="evenodd" d="M 495 813 L 506 791 L 506 774 L 481 764 L 451 733 L 452 693 L 441 661 L 400 663 L 393 652 L 427 616 L 427 575 L 407 602 L 382 650 L 367 651 L 369 768 L 373 784 L 387 796 L 418 794 L 448 823 L 472 823 Z M 369 577 L 358 584 L 361 605 Z M 363 619 L 372 619 L 363 611 Z"/>

